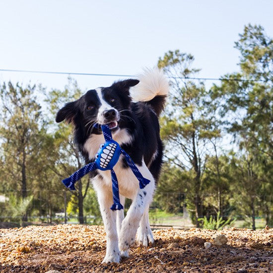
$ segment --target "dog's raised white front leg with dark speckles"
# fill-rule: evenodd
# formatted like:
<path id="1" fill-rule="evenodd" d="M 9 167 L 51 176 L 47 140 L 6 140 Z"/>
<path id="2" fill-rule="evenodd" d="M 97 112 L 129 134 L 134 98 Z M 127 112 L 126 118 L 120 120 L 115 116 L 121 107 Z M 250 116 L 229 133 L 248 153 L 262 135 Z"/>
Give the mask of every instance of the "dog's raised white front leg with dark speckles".
<path id="1" fill-rule="evenodd" d="M 142 166 L 137 166 L 143 177 L 150 180 L 144 189 L 137 187 L 135 198 L 122 222 L 119 238 L 120 250 L 127 250 L 135 242 L 136 231 L 139 226 L 144 210 L 150 205 L 154 192 L 154 179 L 146 167 L 144 161 Z M 148 208 L 147 208 L 148 209 Z"/>

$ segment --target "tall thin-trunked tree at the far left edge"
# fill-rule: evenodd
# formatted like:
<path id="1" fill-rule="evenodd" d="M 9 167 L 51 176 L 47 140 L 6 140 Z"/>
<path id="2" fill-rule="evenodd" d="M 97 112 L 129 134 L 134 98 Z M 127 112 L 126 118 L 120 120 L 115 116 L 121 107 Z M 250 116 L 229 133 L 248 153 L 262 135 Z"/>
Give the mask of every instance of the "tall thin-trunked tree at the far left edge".
<path id="1" fill-rule="evenodd" d="M 6 189 L 18 189 L 27 198 L 28 187 L 37 174 L 40 132 L 44 127 L 41 106 L 34 95 L 35 85 L 22 87 L 11 82 L 0 88 L 0 138 L 4 164 L 3 181 Z M 18 183 L 20 182 L 20 183 Z M 27 221 L 27 213 L 23 215 Z"/>

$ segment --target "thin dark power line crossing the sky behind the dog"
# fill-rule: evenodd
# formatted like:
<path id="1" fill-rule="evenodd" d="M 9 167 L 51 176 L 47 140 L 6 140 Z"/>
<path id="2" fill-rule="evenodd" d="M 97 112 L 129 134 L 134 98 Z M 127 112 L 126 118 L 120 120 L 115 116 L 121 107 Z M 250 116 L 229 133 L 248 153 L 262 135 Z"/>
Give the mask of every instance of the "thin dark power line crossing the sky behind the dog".
<path id="1" fill-rule="evenodd" d="M 76 72 L 56 72 L 56 71 L 38 71 L 38 70 L 19 70 L 19 69 L 0 69 L 4 72 L 24 72 L 24 73 L 42 73 L 42 74 L 64 74 L 64 75 L 84 75 L 84 76 L 110 76 L 110 77 L 136 77 L 136 75 L 125 74 L 103 74 L 103 73 L 76 73 Z M 169 77 L 173 79 L 196 79 L 196 80 L 226 80 L 226 81 L 252 81 L 265 82 L 266 80 L 240 79 L 240 78 L 201 78 L 201 77 Z"/>

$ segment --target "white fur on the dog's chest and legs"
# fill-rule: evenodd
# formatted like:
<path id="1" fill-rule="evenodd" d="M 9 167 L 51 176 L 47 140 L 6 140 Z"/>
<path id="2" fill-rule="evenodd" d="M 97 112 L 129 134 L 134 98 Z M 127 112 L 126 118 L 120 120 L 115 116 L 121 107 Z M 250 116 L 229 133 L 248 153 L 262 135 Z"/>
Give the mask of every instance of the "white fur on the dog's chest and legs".
<path id="1" fill-rule="evenodd" d="M 115 132 L 113 139 L 120 144 L 132 141 L 131 136 L 125 129 L 119 129 Z M 90 158 L 94 157 L 100 143 L 103 142 L 103 135 L 91 135 L 88 138 L 84 149 L 89 153 Z M 153 243 L 148 220 L 148 209 L 155 188 L 154 178 L 145 165 L 144 160 L 142 160 L 142 165 L 136 166 L 143 177 L 150 180 L 150 183 L 144 189 L 140 189 L 139 181 L 132 170 L 123 168 L 122 157 L 123 155 L 120 156 L 114 167 L 119 181 L 120 201 L 124 205 L 125 197 L 133 200 L 125 218 L 123 209 L 119 211 L 110 209 L 113 204 L 111 172 L 98 170 L 103 179 L 96 176 L 92 180 L 94 189 L 97 192 L 106 231 L 107 246 L 103 263 L 119 263 L 121 257 L 128 257 L 128 249 L 135 242 L 136 232 L 140 244 L 147 246 L 149 242 Z"/>

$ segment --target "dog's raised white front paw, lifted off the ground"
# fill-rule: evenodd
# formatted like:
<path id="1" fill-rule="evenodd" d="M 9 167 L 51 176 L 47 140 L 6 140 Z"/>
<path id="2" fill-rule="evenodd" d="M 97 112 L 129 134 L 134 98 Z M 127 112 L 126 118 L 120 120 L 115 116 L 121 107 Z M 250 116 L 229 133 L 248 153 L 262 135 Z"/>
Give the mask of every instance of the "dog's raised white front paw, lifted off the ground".
<path id="1" fill-rule="evenodd" d="M 135 243 L 136 230 L 137 226 L 134 226 L 133 224 L 128 224 L 126 220 L 123 220 L 119 238 L 120 251 L 128 250 L 130 246 Z"/>

